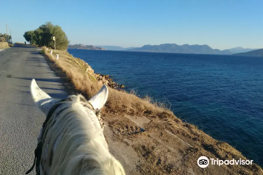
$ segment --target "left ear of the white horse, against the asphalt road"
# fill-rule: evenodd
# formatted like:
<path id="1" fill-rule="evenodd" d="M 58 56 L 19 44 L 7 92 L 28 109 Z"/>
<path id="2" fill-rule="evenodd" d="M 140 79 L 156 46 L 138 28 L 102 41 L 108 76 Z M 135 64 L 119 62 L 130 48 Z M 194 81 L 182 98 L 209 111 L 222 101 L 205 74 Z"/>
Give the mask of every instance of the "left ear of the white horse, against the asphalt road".
<path id="1" fill-rule="evenodd" d="M 46 92 L 42 91 L 35 79 L 32 79 L 30 86 L 31 95 L 34 101 L 35 106 L 45 115 L 49 112 L 49 109 L 57 101 L 51 98 Z"/>

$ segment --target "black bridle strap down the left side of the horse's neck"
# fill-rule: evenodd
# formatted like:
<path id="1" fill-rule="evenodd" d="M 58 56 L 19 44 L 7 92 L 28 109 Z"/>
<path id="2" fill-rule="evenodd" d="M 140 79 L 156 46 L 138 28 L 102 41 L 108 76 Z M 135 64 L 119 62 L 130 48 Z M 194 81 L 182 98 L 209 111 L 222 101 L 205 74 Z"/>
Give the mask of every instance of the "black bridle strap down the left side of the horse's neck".
<path id="1" fill-rule="evenodd" d="M 42 125 L 43 130 L 42 130 L 40 141 L 37 143 L 37 148 L 35 149 L 34 163 L 33 163 L 32 167 L 25 174 L 29 174 L 34 169 L 35 165 L 36 165 L 37 174 L 40 174 L 39 165 L 40 165 L 40 160 L 41 160 L 42 146 L 43 146 L 42 141 L 43 141 L 43 135 L 44 135 L 46 124 L 49 121 L 49 119 L 51 118 L 51 116 L 52 116 L 53 112 L 56 110 L 56 108 L 58 108 L 60 105 L 63 104 L 61 102 L 69 101 L 69 100 L 70 100 L 70 98 L 62 99 L 62 100 L 58 101 L 55 105 L 53 105 L 52 108 L 49 110 L 49 113 L 46 116 L 46 120 L 44 121 L 44 123 Z"/>

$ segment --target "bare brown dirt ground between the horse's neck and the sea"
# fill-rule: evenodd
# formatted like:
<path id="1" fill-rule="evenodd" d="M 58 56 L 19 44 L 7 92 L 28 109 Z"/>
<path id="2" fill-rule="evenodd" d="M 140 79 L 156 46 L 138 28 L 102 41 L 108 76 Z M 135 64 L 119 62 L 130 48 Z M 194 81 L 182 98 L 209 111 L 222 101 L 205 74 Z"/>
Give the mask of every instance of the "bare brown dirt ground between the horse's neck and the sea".
<path id="1" fill-rule="evenodd" d="M 178 119 L 150 114 L 131 116 L 106 112 L 104 134 L 110 152 L 127 175 L 135 174 L 263 174 L 259 165 L 209 165 L 200 168 L 200 156 L 220 160 L 246 158 L 226 142 L 213 139 L 195 126 Z"/>

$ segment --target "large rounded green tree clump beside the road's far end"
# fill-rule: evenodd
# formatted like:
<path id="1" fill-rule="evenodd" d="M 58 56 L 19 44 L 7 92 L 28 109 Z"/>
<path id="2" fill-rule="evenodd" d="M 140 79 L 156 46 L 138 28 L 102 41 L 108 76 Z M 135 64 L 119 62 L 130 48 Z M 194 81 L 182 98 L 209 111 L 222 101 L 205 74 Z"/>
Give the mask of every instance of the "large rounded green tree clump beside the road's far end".
<path id="1" fill-rule="evenodd" d="M 65 50 L 68 47 L 69 41 L 65 32 L 58 25 L 53 25 L 51 22 L 46 22 L 35 30 L 26 31 L 23 35 L 25 40 L 39 46 L 47 46 L 54 48 L 53 36 L 56 37 L 56 49 Z"/>

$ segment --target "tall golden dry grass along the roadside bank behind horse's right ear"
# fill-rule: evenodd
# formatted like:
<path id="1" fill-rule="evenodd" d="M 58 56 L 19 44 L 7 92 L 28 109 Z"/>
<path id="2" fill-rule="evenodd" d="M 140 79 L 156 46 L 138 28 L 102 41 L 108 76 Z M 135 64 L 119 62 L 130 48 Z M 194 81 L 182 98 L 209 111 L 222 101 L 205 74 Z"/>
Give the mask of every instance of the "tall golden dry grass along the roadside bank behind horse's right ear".
<path id="1" fill-rule="evenodd" d="M 96 81 L 96 76 L 91 67 L 79 58 L 75 58 L 66 51 L 54 50 L 52 55 L 50 50 L 46 47 L 42 47 L 42 53 L 47 55 L 50 60 L 62 69 L 63 73 L 70 79 L 75 86 L 76 90 L 79 90 L 87 98 L 90 98 L 100 90 L 102 84 Z M 59 59 L 56 60 L 56 54 L 59 54 Z M 87 71 L 89 69 L 89 71 Z M 165 113 L 168 116 L 175 116 L 167 109 L 163 103 L 154 102 L 150 97 L 143 99 L 132 95 L 125 91 L 119 91 L 109 88 L 109 97 L 106 103 L 106 110 L 117 113 L 128 114 L 143 114 L 159 116 Z"/>

